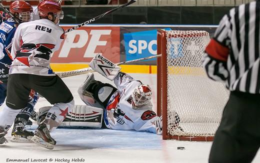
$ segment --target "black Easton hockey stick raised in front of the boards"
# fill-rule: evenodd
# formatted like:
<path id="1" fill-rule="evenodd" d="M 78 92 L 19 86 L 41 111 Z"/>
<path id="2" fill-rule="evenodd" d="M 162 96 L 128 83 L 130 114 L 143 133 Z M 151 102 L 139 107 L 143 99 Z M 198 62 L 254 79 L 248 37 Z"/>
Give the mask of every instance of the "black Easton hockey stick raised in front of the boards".
<path id="1" fill-rule="evenodd" d="M 95 21 L 95 20 L 98 20 L 99 18 L 102 18 L 102 17 L 104 17 L 105 15 L 110 14 L 110 13 L 112 13 L 112 12 L 114 12 L 114 11 L 120 9 L 120 8 L 123 8 L 123 7 L 125 7 L 125 6 L 127 6 L 127 5 L 129 5 L 129 4 L 132 4 L 132 3 L 134 3 L 135 1 L 136 1 L 136 0 L 130 0 L 129 2 L 127 2 L 127 3 L 123 4 L 123 5 L 120 5 L 120 6 L 118 6 L 118 7 L 115 7 L 115 8 L 113 8 L 113 9 L 111 9 L 111 10 L 108 10 L 108 11 L 106 11 L 106 12 L 104 12 L 104 13 L 98 15 L 98 16 L 95 16 L 94 18 L 91 18 L 91 19 L 89 19 L 89 20 L 87 20 L 87 21 L 85 21 L 85 22 L 82 22 L 81 24 L 78 24 L 78 25 L 76 25 L 76 26 L 73 26 L 73 27 L 71 27 L 71 28 L 65 30 L 65 33 L 69 32 L 69 31 L 72 31 L 72 30 L 75 30 L 75 29 L 77 29 L 77 28 L 79 28 L 79 27 L 81 27 L 81 26 L 83 26 L 83 25 L 89 24 L 89 23 L 91 23 L 91 22 L 93 22 L 93 21 Z"/>

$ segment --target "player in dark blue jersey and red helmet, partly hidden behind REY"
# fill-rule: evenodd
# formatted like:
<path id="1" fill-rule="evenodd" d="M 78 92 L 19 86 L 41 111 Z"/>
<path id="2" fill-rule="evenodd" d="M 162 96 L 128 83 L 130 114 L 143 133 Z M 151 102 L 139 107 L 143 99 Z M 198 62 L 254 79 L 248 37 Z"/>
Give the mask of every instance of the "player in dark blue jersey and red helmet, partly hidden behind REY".
<path id="1" fill-rule="evenodd" d="M 32 7 L 29 3 L 23 0 L 13 1 L 10 4 L 9 11 L 19 20 L 20 23 L 33 20 L 34 17 Z M 9 16 L 8 19 L 4 20 L 0 24 L 0 69 L 2 69 L 2 73 L 0 75 L 0 105 L 4 102 L 6 97 L 8 71 L 12 61 L 9 54 L 13 40 L 12 38 L 16 27 L 18 26 L 18 24 L 13 20 L 14 17 Z M 24 128 L 24 125 L 27 123 L 37 99 L 38 94 L 31 90 L 26 107 L 21 109 L 15 118 L 16 120 L 11 133 L 11 140 L 23 141 L 28 140 L 33 136 L 33 132 L 27 131 Z"/>

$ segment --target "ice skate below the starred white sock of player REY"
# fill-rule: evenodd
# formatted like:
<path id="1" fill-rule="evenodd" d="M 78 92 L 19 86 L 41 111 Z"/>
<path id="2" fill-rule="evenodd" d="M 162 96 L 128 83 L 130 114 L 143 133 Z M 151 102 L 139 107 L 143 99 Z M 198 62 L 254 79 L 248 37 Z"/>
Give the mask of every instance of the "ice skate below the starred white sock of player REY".
<path id="1" fill-rule="evenodd" d="M 42 120 L 40 122 L 34 132 L 34 136 L 31 138 L 31 141 L 47 149 L 53 149 L 56 141 L 50 136 L 49 130 L 44 121 L 45 120 Z"/>

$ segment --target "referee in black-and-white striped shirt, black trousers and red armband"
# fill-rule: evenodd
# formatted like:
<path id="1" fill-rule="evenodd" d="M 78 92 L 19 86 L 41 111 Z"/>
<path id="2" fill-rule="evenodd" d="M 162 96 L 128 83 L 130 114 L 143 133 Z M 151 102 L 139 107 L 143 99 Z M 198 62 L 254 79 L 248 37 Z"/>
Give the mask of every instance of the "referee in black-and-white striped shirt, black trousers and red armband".
<path id="1" fill-rule="evenodd" d="M 260 1 L 234 7 L 205 49 L 209 78 L 230 90 L 209 162 L 251 162 L 260 144 Z"/>

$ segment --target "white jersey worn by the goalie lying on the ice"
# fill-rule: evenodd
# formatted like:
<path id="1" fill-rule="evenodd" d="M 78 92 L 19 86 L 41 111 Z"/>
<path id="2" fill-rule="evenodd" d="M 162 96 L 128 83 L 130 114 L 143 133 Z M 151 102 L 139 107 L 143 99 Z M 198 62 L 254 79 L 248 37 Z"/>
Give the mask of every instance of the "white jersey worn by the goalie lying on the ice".
<path id="1" fill-rule="evenodd" d="M 137 109 L 131 106 L 131 94 L 141 85 L 128 74 L 119 72 L 114 78 L 117 91 L 113 93 L 106 106 L 104 121 L 108 128 L 122 130 L 149 131 L 156 133 L 155 117 L 152 104 L 149 102 Z"/>

